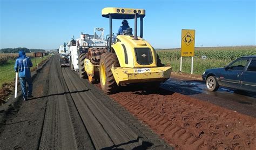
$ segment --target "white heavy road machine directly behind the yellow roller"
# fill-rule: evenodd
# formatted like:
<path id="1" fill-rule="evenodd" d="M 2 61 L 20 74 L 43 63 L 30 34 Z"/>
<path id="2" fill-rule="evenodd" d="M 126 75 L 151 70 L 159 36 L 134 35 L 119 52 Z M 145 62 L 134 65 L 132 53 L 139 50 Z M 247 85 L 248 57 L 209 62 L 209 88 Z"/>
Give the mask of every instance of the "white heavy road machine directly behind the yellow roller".
<path id="1" fill-rule="evenodd" d="M 87 78 L 88 73 L 85 71 L 85 58 L 91 63 L 98 64 L 100 55 L 107 51 L 107 40 L 104 39 L 104 28 L 95 28 L 94 34 L 83 34 L 76 40 L 73 38 L 67 46 L 70 51 L 70 67 L 79 73 L 80 78 Z M 94 74 L 97 76 L 97 74 Z"/>

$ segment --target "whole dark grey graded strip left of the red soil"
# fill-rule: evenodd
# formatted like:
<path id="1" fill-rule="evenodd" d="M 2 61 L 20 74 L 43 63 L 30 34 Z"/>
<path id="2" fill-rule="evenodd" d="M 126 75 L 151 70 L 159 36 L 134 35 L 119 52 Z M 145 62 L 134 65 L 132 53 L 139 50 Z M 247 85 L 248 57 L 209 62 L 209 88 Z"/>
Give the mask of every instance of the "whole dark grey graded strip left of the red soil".
<path id="1" fill-rule="evenodd" d="M 0 149 L 172 149 L 57 55 L 33 83 L 34 98 L 1 124 Z"/>

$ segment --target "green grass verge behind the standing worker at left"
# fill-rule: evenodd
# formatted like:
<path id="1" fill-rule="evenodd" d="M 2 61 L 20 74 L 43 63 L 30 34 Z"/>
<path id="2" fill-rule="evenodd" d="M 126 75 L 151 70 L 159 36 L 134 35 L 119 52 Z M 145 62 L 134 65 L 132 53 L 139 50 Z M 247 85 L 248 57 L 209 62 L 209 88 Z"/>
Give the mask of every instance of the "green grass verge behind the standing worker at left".
<path id="1" fill-rule="evenodd" d="M 37 67 L 37 63 L 41 63 L 42 60 L 46 59 L 46 57 L 50 56 L 44 56 L 44 58 L 31 58 L 33 67 L 30 69 Z M 15 60 L 8 60 L 7 64 L 0 65 L 0 88 L 2 87 L 3 83 L 10 83 L 11 81 L 15 81 L 15 71 L 14 71 L 14 65 Z"/>

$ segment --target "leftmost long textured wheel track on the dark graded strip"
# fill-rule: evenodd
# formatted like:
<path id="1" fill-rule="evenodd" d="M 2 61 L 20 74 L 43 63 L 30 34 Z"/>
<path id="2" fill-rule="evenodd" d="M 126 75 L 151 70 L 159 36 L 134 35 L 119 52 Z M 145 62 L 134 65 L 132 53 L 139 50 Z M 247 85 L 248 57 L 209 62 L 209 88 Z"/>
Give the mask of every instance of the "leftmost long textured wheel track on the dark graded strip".
<path id="1" fill-rule="evenodd" d="M 63 86 L 60 86 L 59 72 L 52 72 L 52 70 L 58 70 L 56 67 L 56 61 L 53 61 L 50 66 L 51 72 L 49 73 L 48 96 L 50 97 L 44 98 L 47 101 L 47 107 L 39 149 L 57 147 L 74 149 L 76 142 L 72 135 L 72 126 L 69 112 L 67 111 L 66 99 L 64 94 L 58 94 L 68 91 Z M 51 83 L 55 83 L 55 85 L 50 85 Z M 58 86 L 62 88 L 58 88 Z M 62 100 L 60 101 L 60 99 Z M 67 139 L 70 142 L 67 142 Z"/>

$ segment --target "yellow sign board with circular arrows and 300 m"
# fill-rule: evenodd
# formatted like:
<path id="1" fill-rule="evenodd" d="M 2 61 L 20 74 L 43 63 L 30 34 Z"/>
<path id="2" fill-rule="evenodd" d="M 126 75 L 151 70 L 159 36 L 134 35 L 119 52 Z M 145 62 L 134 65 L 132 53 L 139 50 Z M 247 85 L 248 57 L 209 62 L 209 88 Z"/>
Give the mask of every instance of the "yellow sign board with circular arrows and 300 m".
<path id="1" fill-rule="evenodd" d="M 181 30 L 181 57 L 194 56 L 195 30 Z"/>

